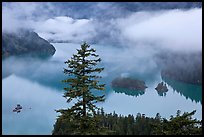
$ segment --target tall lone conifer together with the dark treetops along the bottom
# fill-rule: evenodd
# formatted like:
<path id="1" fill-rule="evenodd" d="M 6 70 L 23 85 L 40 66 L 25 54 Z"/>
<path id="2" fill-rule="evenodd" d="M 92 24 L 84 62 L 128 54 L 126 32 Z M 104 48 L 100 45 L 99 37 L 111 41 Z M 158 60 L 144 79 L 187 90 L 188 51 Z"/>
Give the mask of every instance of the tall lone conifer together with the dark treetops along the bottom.
<path id="1" fill-rule="evenodd" d="M 60 109 L 53 130 L 53 135 L 201 135 L 202 123 L 192 116 L 196 111 L 184 112 L 182 115 L 171 116 L 169 120 L 155 118 L 138 113 L 137 116 L 122 116 L 115 112 L 107 114 L 96 106 L 105 100 L 105 96 L 96 96 L 92 91 L 102 91 L 105 85 L 99 84 L 97 73 L 104 68 L 97 68 L 101 61 L 95 54 L 96 50 L 83 43 L 70 60 L 64 73 L 69 78 L 63 80 L 67 84 L 64 97 L 72 106 Z"/>

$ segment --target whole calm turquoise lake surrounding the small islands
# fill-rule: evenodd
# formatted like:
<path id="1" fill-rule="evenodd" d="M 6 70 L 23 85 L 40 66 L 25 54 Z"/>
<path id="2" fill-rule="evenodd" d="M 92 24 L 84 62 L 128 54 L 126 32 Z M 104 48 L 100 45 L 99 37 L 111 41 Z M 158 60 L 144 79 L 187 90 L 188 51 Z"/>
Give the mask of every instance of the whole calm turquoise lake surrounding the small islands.
<path id="1" fill-rule="evenodd" d="M 51 134 L 57 114 L 56 109 L 68 107 L 63 95 L 63 63 L 69 59 L 80 44 L 53 44 L 55 55 L 49 60 L 9 58 L 2 61 L 2 131 L 3 134 Z M 105 112 L 115 111 L 128 115 L 144 113 L 155 117 L 160 113 L 169 118 L 179 109 L 181 112 L 197 110 L 194 115 L 202 119 L 202 87 L 161 78 L 159 68 L 151 58 L 150 49 L 121 49 L 112 46 L 93 45 L 102 58 L 101 74 L 106 84 L 106 101 L 98 104 Z M 145 52 L 144 52 L 145 51 Z M 123 88 L 111 88 L 116 77 L 144 80 L 145 92 Z M 154 89 L 164 81 L 169 91 L 158 94 Z M 98 93 L 96 93 L 98 94 Z M 12 112 L 16 104 L 22 112 Z"/>

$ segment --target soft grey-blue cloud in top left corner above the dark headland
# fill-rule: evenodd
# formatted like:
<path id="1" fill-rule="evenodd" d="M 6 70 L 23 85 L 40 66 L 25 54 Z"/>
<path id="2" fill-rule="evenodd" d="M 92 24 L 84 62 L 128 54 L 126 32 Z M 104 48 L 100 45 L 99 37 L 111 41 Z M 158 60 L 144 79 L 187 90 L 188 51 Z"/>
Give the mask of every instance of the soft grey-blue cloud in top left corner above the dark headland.
<path id="1" fill-rule="evenodd" d="M 18 32 L 34 29 L 39 21 L 60 13 L 51 3 L 9 2 L 2 3 L 2 31 Z"/>

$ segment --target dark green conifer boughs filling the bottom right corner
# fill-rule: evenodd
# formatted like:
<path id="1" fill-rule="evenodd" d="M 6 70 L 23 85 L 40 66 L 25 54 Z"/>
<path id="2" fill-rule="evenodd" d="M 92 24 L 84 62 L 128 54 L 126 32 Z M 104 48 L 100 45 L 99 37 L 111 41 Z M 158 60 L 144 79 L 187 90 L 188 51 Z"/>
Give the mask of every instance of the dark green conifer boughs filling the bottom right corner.
<path id="1" fill-rule="evenodd" d="M 163 118 L 160 123 L 155 123 L 154 135 L 201 135 L 202 121 L 193 119 L 196 110 L 192 112 L 184 112 L 178 110 L 175 117 L 171 116 L 170 120 Z"/>

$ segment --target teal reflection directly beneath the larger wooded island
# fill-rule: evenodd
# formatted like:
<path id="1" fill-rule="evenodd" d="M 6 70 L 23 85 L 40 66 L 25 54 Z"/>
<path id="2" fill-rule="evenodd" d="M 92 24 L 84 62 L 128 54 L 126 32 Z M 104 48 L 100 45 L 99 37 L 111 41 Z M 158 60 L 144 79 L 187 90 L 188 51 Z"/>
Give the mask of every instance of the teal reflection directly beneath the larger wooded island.
<path id="1" fill-rule="evenodd" d="M 113 90 L 116 93 L 125 93 L 126 95 L 135 96 L 135 97 L 138 97 L 139 95 L 143 95 L 145 93 L 144 91 L 141 91 L 141 90 L 130 90 L 126 88 L 116 88 L 116 87 L 114 87 Z"/>

